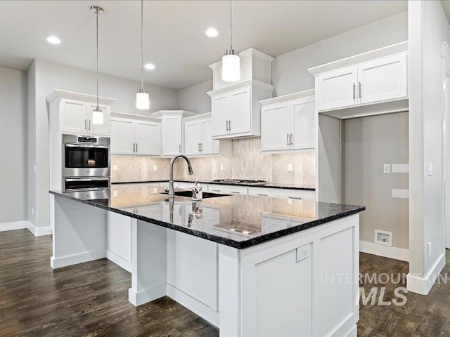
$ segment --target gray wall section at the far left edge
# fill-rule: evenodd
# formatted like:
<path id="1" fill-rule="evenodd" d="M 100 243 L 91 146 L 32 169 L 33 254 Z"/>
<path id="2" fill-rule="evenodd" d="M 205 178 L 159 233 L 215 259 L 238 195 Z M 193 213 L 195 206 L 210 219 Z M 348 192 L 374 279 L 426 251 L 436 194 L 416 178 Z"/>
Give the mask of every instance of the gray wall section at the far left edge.
<path id="1" fill-rule="evenodd" d="M 27 219 L 27 76 L 0 67 L 0 223 Z"/>

